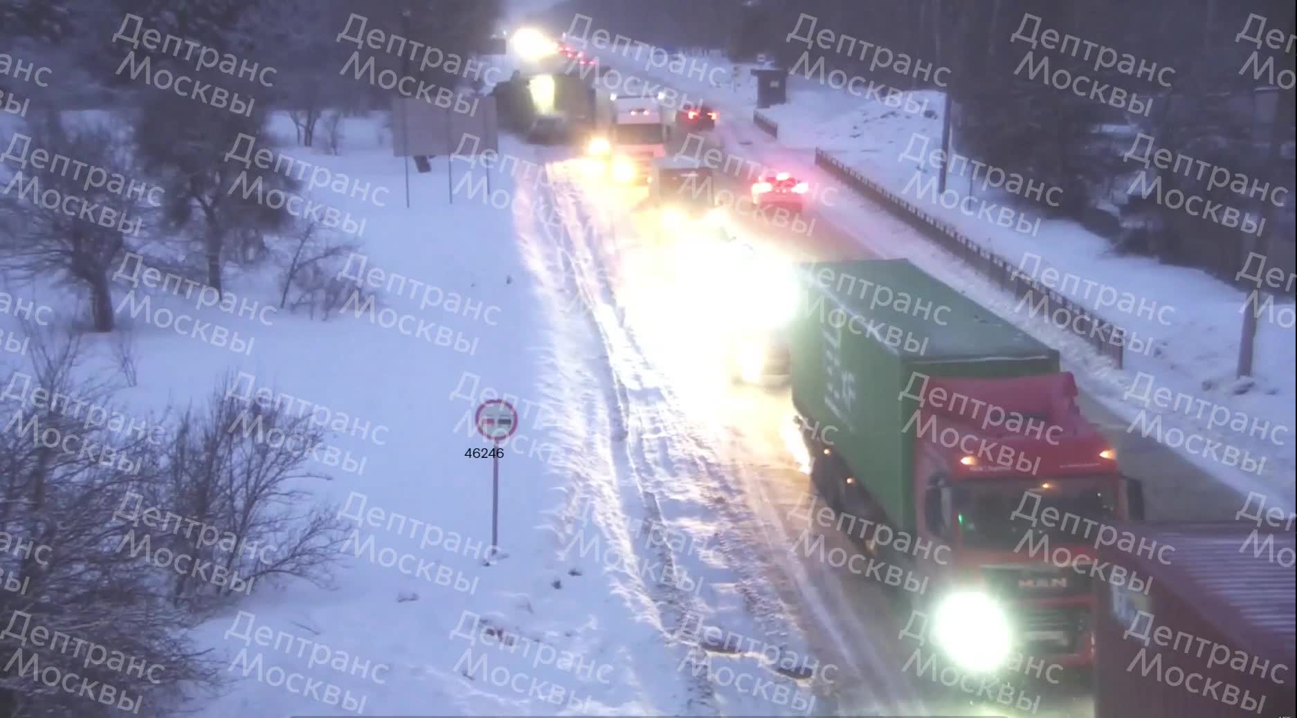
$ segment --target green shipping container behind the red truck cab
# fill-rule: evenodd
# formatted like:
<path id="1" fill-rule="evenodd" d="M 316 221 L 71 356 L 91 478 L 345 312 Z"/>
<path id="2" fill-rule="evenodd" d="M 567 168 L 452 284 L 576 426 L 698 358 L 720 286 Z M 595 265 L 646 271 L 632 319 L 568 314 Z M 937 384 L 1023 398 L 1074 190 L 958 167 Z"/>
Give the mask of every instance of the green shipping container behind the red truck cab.
<path id="1" fill-rule="evenodd" d="M 890 522 L 910 531 L 917 424 L 903 428 L 917 402 L 901 394 L 913 375 L 1048 375 L 1060 371 L 1058 351 L 905 259 L 803 270 L 804 305 L 789 334 L 792 403 L 812 428 L 837 428 L 837 452 Z M 914 381 L 917 393 L 922 377 Z"/>

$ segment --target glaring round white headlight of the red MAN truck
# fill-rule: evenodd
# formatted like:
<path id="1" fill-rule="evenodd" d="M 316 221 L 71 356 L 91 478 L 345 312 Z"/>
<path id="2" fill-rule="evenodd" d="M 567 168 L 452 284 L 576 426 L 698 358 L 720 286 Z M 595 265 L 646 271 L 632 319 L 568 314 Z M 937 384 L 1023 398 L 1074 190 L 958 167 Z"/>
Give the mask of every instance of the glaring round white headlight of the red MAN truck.
<path id="1" fill-rule="evenodd" d="M 933 638 L 965 673 L 994 673 L 1008 661 L 1013 630 L 1004 608 L 991 596 L 981 591 L 951 594 L 938 604 L 933 621 Z"/>

